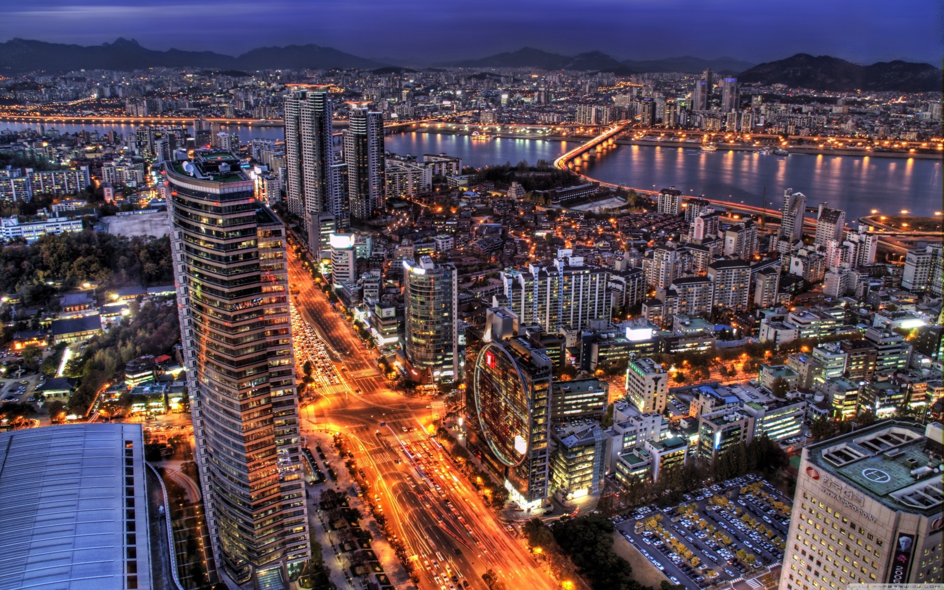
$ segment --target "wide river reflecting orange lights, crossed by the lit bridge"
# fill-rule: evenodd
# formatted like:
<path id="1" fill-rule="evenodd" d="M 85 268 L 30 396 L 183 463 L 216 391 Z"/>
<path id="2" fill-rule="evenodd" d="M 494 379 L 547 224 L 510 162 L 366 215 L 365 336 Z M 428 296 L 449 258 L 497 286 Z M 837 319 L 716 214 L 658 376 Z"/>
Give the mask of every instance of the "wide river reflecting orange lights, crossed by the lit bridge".
<path id="1" fill-rule="evenodd" d="M 0 121 L 5 128 L 35 128 L 35 124 Z M 115 129 L 134 130 L 130 125 L 59 124 L 60 132 L 75 133 L 86 128 L 100 134 Z M 235 127 L 240 140 L 282 139 L 278 126 Z M 495 139 L 472 141 L 467 136 L 440 133 L 399 133 L 385 138 L 386 149 L 398 154 L 447 153 L 475 167 L 513 165 L 521 160 L 554 160 L 575 143 L 545 140 Z M 675 186 L 685 194 L 730 199 L 736 203 L 761 206 L 767 188 L 767 206 L 779 209 L 784 189 L 792 188 L 807 196 L 807 204 L 829 203 L 848 212 L 852 220 L 871 210 L 883 213 L 910 211 L 933 215 L 941 211 L 944 172 L 941 160 L 869 158 L 791 154 L 788 157 L 753 152 L 718 150 L 701 152 L 684 147 L 619 145 L 604 158 L 592 160 L 584 171 L 615 184 L 639 189 Z"/>

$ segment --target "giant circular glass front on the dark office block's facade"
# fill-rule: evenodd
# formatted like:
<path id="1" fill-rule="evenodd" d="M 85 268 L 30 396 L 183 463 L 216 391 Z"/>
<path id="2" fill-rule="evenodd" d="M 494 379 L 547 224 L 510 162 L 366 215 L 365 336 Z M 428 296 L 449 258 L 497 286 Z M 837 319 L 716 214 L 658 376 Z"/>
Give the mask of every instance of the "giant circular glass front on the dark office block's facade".
<path id="1" fill-rule="evenodd" d="M 531 402 L 524 376 L 504 346 L 490 343 L 475 363 L 476 412 L 482 433 L 496 459 L 522 464 L 531 439 Z"/>

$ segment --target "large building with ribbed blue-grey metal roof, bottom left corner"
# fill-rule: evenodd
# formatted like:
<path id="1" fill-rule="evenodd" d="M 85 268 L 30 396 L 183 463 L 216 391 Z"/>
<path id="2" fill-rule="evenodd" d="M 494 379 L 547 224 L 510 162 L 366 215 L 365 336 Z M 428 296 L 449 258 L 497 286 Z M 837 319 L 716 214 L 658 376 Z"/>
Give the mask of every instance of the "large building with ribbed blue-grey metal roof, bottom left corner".
<path id="1" fill-rule="evenodd" d="M 165 587 L 140 424 L 9 430 L 0 465 L 0 588 Z"/>

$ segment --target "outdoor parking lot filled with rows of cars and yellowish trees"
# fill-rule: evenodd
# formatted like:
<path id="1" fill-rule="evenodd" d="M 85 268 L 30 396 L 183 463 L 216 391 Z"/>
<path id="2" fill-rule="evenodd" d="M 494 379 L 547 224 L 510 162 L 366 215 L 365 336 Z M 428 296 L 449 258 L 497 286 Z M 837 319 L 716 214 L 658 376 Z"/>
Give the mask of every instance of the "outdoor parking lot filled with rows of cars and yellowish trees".
<path id="1" fill-rule="evenodd" d="M 678 505 L 616 515 L 614 524 L 670 582 L 706 588 L 780 563 L 790 499 L 749 474 L 701 488 Z"/>

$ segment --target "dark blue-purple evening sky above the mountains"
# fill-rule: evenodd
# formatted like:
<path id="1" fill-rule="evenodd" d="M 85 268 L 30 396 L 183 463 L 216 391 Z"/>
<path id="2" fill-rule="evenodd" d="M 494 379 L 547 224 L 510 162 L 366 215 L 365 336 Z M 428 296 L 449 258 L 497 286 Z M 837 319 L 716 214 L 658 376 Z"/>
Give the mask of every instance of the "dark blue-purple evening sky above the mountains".
<path id="1" fill-rule="evenodd" d="M 367 58 L 481 57 L 530 45 L 619 59 L 798 52 L 859 63 L 940 65 L 936 0 L 0 0 L 0 40 L 97 44 L 135 38 L 237 55 L 312 42 Z"/>

